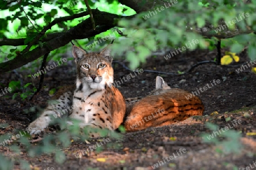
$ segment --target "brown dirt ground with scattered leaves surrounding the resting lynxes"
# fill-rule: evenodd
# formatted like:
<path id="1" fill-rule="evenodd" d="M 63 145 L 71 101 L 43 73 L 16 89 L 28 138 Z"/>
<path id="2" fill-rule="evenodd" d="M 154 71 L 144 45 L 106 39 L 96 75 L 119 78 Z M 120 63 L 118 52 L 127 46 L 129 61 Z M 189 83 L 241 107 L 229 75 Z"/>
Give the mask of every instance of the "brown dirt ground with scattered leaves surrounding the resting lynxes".
<path id="1" fill-rule="evenodd" d="M 215 56 L 216 52 L 205 50 L 178 54 L 168 60 L 163 56 L 156 56 L 148 58 L 139 68 L 177 73 Z M 88 155 L 81 156 L 81 159 L 76 158 L 77 151 L 86 150 L 98 141 L 90 141 L 90 145 L 85 142 L 73 142 L 71 146 L 63 149 L 67 157 L 63 164 L 55 163 L 53 155 L 44 154 L 29 158 L 26 151 L 15 155 L 9 147 L 0 147 L 0 152 L 9 158 L 15 158 L 14 160 L 19 158 L 28 160 L 31 168 L 34 169 L 153 169 L 152 165 L 161 163 L 160 161 L 163 164 L 161 163 L 157 169 L 253 169 L 256 167 L 256 75 L 250 69 L 245 69 L 241 73 L 236 72 L 238 67 L 249 61 L 246 52 L 242 52 L 239 56 L 240 62 L 232 63 L 230 66 L 207 63 L 185 75 L 163 75 L 145 71 L 118 87 L 125 98 L 129 98 L 146 96 L 147 92 L 155 88 L 157 75 L 163 76 L 172 88 L 191 92 L 219 79 L 220 83 L 198 94 L 205 105 L 204 116 L 188 118 L 183 122 L 161 128 L 126 133 L 122 140 L 112 139 L 113 145 L 110 147 L 102 145 L 102 151 L 92 151 Z M 130 74 L 129 70 L 118 63 L 113 63 L 113 67 L 115 80 Z M 31 82 L 26 71 L 17 71 L 22 78 L 14 72 L 0 75 L 0 90 L 8 87 L 11 80 L 22 79 L 23 84 Z M 26 114 L 23 109 L 35 105 L 45 106 L 50 98 L 49 90 L 65 84 L 73 84 L 75 78 L 75 66 L 73 61 L 69 61 L 66 66 L 48 71 L 43 90 L 32 101 L 22 101 L 20 97 L 11 100 L 12 94 L 0 97 L 0 124 L 9 124 L 6 128 L 0 127 L 0 134 L 12 134 L 14 129 L 25 129 L 33 120 L 35 113 Z M 33 82 L 38 87 L 39 78 L 33 79 Z M 232 125 L 234 120 L 241 122 L 232 128 L 242 136 L 240 143 L 243 148 L 236 148 L 234 144 L 237 141 L 232 141 L 230 144 L 230 147 L 237 149 L 237 154 L 225 154 L 225 147 L 203 142 L 201 134 L 212 133 L 205 125 L 206 122 L 213 122 L 225 128 Z M 222 140 L 226 139 L 221 138 Z M 32 145 L 40 145 L 40 142 Z M 174 159 L 164 159 L 169 156 L 174 156 Z M 14 168 L 20 169 L 17 161 Z"/>

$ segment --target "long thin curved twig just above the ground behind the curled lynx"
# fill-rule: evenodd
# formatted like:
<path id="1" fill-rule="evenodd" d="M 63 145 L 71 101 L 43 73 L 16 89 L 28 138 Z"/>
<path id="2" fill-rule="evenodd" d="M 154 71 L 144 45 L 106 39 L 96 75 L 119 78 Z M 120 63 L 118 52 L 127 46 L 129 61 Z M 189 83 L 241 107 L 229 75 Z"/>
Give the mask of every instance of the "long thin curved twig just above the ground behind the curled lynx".
<path id="1" fill-rule="evenodd" d="M 127 67 L 124 63 L 121 63 L 119 61 L 113 61 L 113 62 L 118 63 L 119 65 L 121 65 L 126 70 L 133 71 L 133 70 L 129 69 L 129 67 Z M 201 62 L 198 62 L 195 65 L 191 66 L 187 71 L 184 71 L 183 73 L 180 73 L 180 74 L 168 73 L 168 72 L 156 71 L 156 70 L 143 70 L 143 71 L 148 72 L 148 73 L 158 73 L 158 74 L 167 74 L 167 75 L 183 75 L 183 74 L 187 74 L 187 73 L 191 72 L 195 67 L 197 67 L 199 65 L 202 65 L 204 63 L 214 63 L 215 65 L 217 65 L 217 63 L 215 61 L 201 61 Z"/>

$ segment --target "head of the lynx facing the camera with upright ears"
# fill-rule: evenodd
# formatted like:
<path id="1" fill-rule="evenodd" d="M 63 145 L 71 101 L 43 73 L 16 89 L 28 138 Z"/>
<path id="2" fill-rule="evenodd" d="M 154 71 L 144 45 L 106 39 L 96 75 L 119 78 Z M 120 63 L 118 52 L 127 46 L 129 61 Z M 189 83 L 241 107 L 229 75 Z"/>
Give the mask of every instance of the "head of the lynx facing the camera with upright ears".
<path id="1" fill-rule="evenodd" d="M 110 57 L 110 45 L 100 53 L 86 53 L 83 49 L 73 45 L 73 57 L 77 65 L 77 80 L 88 84 L 90 88 L 104 89 L 113 83 L 113 58 Z"/>

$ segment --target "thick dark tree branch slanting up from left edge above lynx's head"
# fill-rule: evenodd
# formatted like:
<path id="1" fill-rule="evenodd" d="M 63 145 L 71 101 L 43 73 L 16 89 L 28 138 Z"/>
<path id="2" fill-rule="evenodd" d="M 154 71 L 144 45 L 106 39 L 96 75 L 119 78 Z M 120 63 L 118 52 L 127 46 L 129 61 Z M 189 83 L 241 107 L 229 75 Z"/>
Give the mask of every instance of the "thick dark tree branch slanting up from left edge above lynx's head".
<path id="1" fill-rule="evenodd" d="M 10 71 L 26 65 L 28 62 L 32 62 L 35 59 L 43 56 L 46 53 L 51 52 L 61 46 L 68 44 L 71 40 L 75 39 L 86 39 L 98 35 L 101 32 L 105 32 L 110 28 L 113 28 L 117 25 L 115 22 L 116 18 L 132 18 L 133 16 L 119 16 L 115 14 L 110 14 L 108 12 L 102 12 L 99 10 L 92 10 L 96 25 L 95 30 L 92 29 L 92 22 L 90 18 L 85 19 L 80 24 L 77 24 L 75 27 L 69 29 L 67 32 L 63 33 L 61 36 L 55 37 L 54 39 L 44 42 L 42 48 L 38 46 L 37 48 L 31 50 L 30 52 L 20 54 L 14 59 L 0 63 L 0 73 Z M 69 16 L 67 16 L 69 17 Z"/>

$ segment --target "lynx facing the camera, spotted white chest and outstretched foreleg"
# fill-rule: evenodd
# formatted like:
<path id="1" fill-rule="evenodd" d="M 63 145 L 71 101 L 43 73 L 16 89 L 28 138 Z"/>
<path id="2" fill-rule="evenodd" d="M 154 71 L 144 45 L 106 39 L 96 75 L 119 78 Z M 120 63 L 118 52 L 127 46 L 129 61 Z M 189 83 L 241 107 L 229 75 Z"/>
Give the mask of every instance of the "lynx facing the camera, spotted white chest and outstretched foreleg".
<path id="1" fill-rule="evenodd" d="M 114 130 L 123 122 L 125 99 L 112 86 L 113 68 L 109 46 L 101 53 L 86 53 L 74 45 L 72 53 L 77 66 L 75 91 L 61 95 L 57 99 L 59 104 L 48 105 L 42 115 L 28 126 L 31 134 L 47 128 L 51 115 L 61 117 L 63 112 L 71 112 L 69 117 L 82 120 L 81 128 L 92 126 Z"/>

